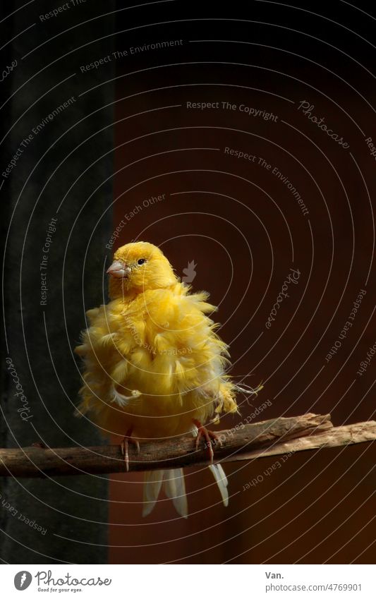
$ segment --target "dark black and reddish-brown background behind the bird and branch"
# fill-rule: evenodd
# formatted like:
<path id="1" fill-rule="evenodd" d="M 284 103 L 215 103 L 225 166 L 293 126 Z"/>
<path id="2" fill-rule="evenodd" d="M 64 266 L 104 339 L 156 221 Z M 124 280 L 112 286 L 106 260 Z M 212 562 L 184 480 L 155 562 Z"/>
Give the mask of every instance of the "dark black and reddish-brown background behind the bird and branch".
<path id="1" fill-rule="evenodd" d="M 51 10 L 47 4 L 16 13 L 13 35 L 37 20 L 43 6 Z M 35 410 L 35 428 L 20 423 L 9 399 L 11 384 L 5 382 L 1 444 L 25 446 L 39 437 L 52 447 L 97 442 L 90 423 L 72 418 L 80 380 L 70 348 L 85 326 L 84 306 L 106 301 L 103 265 L 111 254 L 106 243 L 112 231 L 124 214 L 162 193 L 165 200 L 129 217 L 114 248 L 133 239 L 156 243 L 180 276 L 188 261 L 197 264 L 193 286 L 210 291 L 219 305 L 231 374 L 247 375 L 249 385 L 265 385 L 252 404 L 239 398 L 241 416 L 226 417 L 221 426 L 233 426 L 266 400 L 272 405 L 257 420 L 307 411 L 330 412 L 335 425 L 372 419 L 376 362 L 357 375 L 375 343 L 375 159 L 365 144 L 375 131 L 372 18 L 361 5 L 344 2 L 294 7 L 255 1 L 225 8 L 210 2 L 140 8 L 106 3 L 105 11 L 101 4 L 87 2 L 43 27 L 37 23 L 4 55 L 8 64 L 12 56 L 43 44 L 4 82 L 9 96 L 56 62 L 4 107 L 4 134 L 9 119 L 30 109 L 7 135 L 2 164 L 51 109 L 72 94 L 83 95 L 37 136 L 1 190 L 8 219 L 22 190 L 8 238 L 4 295 L 9 353 Z M 100 16 L 111 10 L 116 13 Z M 10 12 L 8 7 L 4 16 Z M 13 35 L 7 30 L 6 39 Z M 183 44 L 129 53 L 131 47 L 162 40 Z M 128 56 L 80 73 L 80 66 L 124 49 Z M 77 74 L 53 89 L 72 73 Z M 303 100 L 343 136 L 348 149 L 298 111 Z M 216 101 L 245 104 L 278 119 L 186 108 L 186 102 Z M 271 171 L 225 155 L 224 147 L 277 167 L 309 214 Z M 45 226 L 65 194 L 44 310 L 48 347 L 38 296 L 39 254 Z M 291 267 L 301 276 L 268 330 L 265 322 Z M 360 289 L 367 293 L 353 326 L 327 363 Z M 30 504 L 30 492 L 39 497 L 29 510 L 49 534 L 25 531 L 1 510 L 1 556 L 13 563 L 374 562 L 373 444 L 291 456 L 272 476 L 243 491 L 276 461 L 226 464 L 227 509 L 210 473 L 188 470 L 187 521 L 175 516 L 169 501 L 159 502 L 143 521 L 138 475 L 111 476 L 108 488 L 105 478 L 93 477 L 23 480 L 22 487 L 7 480 L 0 492 L 20 511 Z M 54 508 L 60 509 L 60 502 L 66 516 L 58 520 Z"/>

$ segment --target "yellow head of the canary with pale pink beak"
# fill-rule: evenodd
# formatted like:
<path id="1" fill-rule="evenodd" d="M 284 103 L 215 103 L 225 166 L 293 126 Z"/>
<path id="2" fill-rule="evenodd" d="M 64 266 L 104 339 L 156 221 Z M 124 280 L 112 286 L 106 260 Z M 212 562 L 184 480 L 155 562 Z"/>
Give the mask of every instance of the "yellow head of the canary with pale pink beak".
<path id="1" fill-rule="evenodd" d="M 162 250 L 145 241 L 127 243 L 116 250 L 107 273 L 111 275 L 109 295 L 112 299 L 147 289 L 164 289 L 177 281 Z"/>

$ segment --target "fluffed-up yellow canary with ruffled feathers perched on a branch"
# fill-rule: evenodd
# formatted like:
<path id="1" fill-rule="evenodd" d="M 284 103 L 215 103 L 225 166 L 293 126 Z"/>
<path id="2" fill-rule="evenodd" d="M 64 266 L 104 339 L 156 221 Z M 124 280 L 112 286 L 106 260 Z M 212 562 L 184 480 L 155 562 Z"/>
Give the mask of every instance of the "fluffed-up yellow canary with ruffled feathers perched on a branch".
<path id="1" fill-rule="evenodd" d="M 124 437 L 127 469 L 128 442 L 188 432 L 197 444 L 205 437 L 212 457 L 215 435 L 203 425 L 219 420 L 222 411 L 236 412 L 236 392 L 245 391 L 225 374 L 227 346 L 207 316 L 217 308 L 205 291 L 191 293 L 151 243 L 119 248 L 107 272 L 111 301 L 87 311 L 90 327 L 75 349 L 85 365 L 78 413 L 87 413 L 105 434 Z M 210 468 L 226 505 L 223 468 Z M 152 511 L 162 483 L 186 517 L 181 468 L 145 473 L 143 515 Z"/>

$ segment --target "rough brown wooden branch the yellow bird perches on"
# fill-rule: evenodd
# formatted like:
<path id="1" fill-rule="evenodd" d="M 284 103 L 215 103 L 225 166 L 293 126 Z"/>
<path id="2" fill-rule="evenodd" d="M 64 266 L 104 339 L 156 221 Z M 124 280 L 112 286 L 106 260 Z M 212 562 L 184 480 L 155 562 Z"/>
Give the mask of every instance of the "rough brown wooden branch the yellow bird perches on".
<path id="1" fill-rule="evenodd" d="M 214 461 L 237 461 L 319 447 L 339 447 L 376 440 L 376 422 L 370 421 L 334 428 L 330 415 L 304 414 L 264 422 L 236 425 L 217 432 Z M 141 452 L 129 447 L 130 471 L 158 470 L 209 464 L 207 447 L 195 449 L 191 436 L 144 442 Z M 49 449 L 25 447 L 0 449 L 0 476 L 63 476 L 124 472 L 119 445 L 63 447 Z"/>

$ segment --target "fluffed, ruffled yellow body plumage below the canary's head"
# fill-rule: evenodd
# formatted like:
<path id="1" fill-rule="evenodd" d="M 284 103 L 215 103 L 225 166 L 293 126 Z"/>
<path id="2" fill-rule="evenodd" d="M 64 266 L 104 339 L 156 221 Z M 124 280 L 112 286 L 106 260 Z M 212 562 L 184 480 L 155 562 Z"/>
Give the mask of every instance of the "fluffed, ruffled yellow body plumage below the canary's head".
<path id="1" fill-rule="evenodd" d="M 109 426 L 136 419 L 145 436 L 165 425 L 186 432 L 192 418 L 205 421 L 216 407 L 236 411 L 224 375 L 226 344 L 206 315 L 214 309 L 207 294 L 190 295 L 178 283 L 90 310 L 77 349 L 85 362 L 81 409 L 100 413 L 101 422 L 109 411 Z M 145 419 L 154 421 L 145 425 Z"/>

